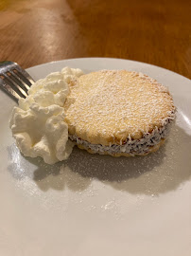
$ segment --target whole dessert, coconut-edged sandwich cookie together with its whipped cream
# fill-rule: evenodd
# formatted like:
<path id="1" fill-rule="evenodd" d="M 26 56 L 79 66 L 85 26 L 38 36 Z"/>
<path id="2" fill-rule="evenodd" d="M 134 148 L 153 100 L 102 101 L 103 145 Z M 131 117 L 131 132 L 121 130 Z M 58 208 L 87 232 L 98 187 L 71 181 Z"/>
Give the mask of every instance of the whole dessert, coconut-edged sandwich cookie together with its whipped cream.
<path id="1" fill-rule="evenodd" d="M 9 122 L 21 152 L 54 164 L 74 144 L 90 153 L 147 155 L 165 142 L 175 107 L 168 90 L 142 73 L 65 67 L 35 82 Z"/>

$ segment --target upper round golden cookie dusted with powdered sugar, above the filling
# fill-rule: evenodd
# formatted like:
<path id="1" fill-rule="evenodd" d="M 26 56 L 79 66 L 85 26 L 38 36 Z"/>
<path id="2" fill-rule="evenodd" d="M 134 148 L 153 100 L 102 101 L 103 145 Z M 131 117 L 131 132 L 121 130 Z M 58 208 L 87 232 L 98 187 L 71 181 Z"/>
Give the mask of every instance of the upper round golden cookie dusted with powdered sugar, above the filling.
<path id="1" fill-rule="evenodd" d="M 142 73 L 101 70 L 82 75 L 70 89 L 65 103 L 69 134 L 90 143 L 139 139 L 174 115 L 165 86 Z"/>

